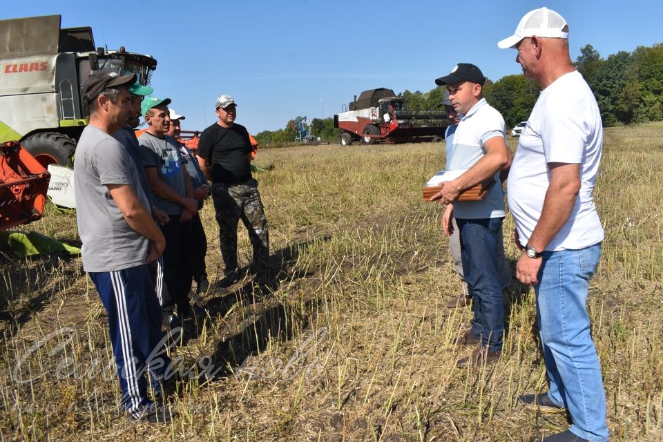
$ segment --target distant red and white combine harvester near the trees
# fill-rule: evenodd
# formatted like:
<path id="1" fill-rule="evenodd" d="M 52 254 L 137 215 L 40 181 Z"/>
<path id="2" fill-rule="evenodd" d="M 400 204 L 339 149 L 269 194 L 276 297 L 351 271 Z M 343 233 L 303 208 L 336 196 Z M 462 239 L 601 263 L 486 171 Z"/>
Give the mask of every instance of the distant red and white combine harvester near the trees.
<path id="1" fill-rule="evenodd" d="M 354 141 L 439 142 L 444 139 L 447 126 L 449 121 L 443 111 L 408 111 L 403 108 L 403 98 L 386 88 L 365 90 L 359 99 L 355 95 L 347 111 L 334 115 L 334 127 L 341 130 L 343 146 Z"/>

